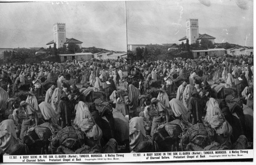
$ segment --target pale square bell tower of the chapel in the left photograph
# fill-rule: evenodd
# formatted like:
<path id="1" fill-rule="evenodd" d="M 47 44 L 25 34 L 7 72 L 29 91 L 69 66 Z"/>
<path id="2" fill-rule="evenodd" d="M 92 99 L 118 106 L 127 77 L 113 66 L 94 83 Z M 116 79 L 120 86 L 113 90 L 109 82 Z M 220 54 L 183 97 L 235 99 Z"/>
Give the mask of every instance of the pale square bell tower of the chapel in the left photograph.
<path id="1" fill-rule="evenodd" d="M 66 23 L 53 24 L 53 42 L 56 43 L 56 48 L 62 47 L 66 42 Z"/>

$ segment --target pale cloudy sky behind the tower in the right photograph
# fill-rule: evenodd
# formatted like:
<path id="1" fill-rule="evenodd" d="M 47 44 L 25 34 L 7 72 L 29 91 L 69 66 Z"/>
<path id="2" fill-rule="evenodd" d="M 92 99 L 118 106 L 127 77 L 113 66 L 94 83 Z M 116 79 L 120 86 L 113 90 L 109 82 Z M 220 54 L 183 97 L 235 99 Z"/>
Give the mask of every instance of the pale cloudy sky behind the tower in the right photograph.
<path id="1" fill-rule="evenodd" d="M 215 42 L 253 46 L 252 0 L 126 2 L 128 44 L 179 43 L 186 20 L 199 19 L 199 33 Z"/>

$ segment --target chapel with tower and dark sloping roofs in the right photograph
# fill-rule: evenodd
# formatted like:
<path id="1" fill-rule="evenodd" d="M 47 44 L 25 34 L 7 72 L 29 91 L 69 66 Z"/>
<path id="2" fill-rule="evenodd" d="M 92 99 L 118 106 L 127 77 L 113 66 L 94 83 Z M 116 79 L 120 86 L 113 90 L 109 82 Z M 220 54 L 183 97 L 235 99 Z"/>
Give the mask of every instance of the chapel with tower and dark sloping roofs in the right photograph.
<path id="1" fill-rule="evenodd" d="M 187 19 L 186 21 L 186 36 L 179 39 L 180 44 L 186 43 L 186 40 L 188 39 L 188 43 L 189 44 L 193 44 L 195 43 L 197 40 L 199 42 L 201 42 L 202 39 L 208 39 L 210 40 L 212 43 L 215 43 L 215 37 L 212 37 L 210 35 L 207 34 L 199 34 L 199 24 L 198 24 L 198 19 Z"/>

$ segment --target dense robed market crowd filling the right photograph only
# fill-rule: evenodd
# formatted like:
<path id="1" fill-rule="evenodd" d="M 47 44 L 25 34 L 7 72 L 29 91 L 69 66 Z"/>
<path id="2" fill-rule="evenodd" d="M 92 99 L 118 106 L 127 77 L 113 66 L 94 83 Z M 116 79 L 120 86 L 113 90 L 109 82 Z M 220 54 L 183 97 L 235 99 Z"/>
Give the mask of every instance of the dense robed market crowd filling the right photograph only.
<path id="1" fill-rule="evenodd" d="M 131 152 L 252 147 L 251 56 L 135 61 L 128 81 Z"/>

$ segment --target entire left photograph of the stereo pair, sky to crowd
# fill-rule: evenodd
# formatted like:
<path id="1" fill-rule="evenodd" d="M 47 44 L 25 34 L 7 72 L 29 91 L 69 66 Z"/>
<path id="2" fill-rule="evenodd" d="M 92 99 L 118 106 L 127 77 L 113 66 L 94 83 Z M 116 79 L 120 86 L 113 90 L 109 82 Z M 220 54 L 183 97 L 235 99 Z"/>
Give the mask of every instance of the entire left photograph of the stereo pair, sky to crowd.
<path id="1" fill-rule="evenodd" d="M 130 152 L 125 2 L 0 10 L 1 161 Z"/>

